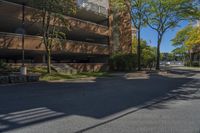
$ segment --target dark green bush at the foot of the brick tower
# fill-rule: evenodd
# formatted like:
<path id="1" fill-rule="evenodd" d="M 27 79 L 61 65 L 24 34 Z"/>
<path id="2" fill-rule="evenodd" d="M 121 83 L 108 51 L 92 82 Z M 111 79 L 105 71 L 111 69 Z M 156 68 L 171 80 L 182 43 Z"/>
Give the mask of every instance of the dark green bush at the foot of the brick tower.
<path id="1" fill-rule="evenodd" d="M 113 54 L 109 59 L 111 71 L 132 71 L 137 66 L 137 56 L 135 54 Z"/>

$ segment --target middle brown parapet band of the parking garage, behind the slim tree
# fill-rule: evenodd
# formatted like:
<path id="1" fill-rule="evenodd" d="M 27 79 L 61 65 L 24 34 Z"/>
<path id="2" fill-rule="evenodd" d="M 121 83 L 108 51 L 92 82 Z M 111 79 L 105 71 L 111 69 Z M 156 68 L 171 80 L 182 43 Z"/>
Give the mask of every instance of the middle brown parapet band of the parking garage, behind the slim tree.
<path id="1" fill-rule="evenodd" d="M 7 50 L 11 50 L 12 54 L 15 51 L 22 49 L 21 35 L 0 33 L 0 53 L 8 54 Z M 25 50 L 45 53 L 45 46 L 43 40 L 39 36 L 25 36 Z M 87 43 L 73 40 L 62 41 L 62 45 L 55 45 L 52 49 L 53 54 L 94 54 L 94 55 L 108 55 L 109 48 L 106 44 Z"/>

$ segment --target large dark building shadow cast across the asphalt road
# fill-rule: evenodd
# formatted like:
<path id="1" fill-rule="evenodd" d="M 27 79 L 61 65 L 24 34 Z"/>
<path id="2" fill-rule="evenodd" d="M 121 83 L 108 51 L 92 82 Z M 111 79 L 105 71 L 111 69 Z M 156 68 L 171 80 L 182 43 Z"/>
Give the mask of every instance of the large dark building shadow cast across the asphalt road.
<path id="1" fill-rule="evenodd" d="M 191 85 L 190 82 L 194 80 L 149 74 L 144 79 L 110 77 L 90 82 L 1 86 L 0 132 L 71 115 L 104 120 L 125 111 L 120 116 L 79 131 L 83 132 L 155 103 L 189 95 L 193 91 L 183 91 L 182 87 L 187 83 Z"/>

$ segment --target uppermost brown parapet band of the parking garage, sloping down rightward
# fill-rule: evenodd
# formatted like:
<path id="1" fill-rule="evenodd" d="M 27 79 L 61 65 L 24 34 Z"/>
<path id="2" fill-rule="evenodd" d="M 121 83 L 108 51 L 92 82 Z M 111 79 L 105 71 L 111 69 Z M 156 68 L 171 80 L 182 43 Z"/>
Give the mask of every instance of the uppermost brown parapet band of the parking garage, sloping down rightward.
<path id="1" fill-rule="evenodd" d="M 6 10 L 6 14 L 7 17 L 19 20 L 21 19 L 21 5 L 20 4 L 16 4 L 16 3 L 12 3 L 12 2 L 7 2 L 7 1 L 2 1 L 2 6 L 5 7 Z M 15 8 L 15 12 L 13 13 L 12 8 Z M 9 9 L 9 10 L 7 10 Z M 37 25 L 39 23 L 42 23 L 42 19 L 38 19 L 38 18 L 34 18 L 33 17 L 33 13 L 39 12 L 40 10 L 29 7 L 29 6 L 25 6 L 25 23 L 29 22 L 33 25 Z M 16 14 L 17 12 L 17 14 Z M 94 22 L 90 22 L 87 20 L 81 20 L 75 17 L 70 17 L 70 16 L 65 16 L 63 15 L 63 17 L 67 20 L 67 22 L 69 23 L 69 27 L 70 28 L 76 28 L 76 29 L 80 29 L 80 30 L 86 30 L 88 32 L 91 33 L 95 33 L 98 35 L 103 35 L 103 36 L 109 36 L 109 28 L 108 26 L 105 25 L 100 25 Z M 61 25 L 58 25 L 61 26 Z M 64 26 L 65 27 L 65 26 Z M 63 28 L 64 28 L 63 27 Z M 36 27 L 39 28 L 40 27 Z"/>

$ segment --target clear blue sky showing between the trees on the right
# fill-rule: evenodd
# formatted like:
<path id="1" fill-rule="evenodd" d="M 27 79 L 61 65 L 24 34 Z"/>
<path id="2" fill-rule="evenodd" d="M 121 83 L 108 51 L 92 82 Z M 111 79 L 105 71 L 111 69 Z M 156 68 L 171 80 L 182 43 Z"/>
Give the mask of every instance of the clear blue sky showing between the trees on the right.
<path id="1" fill-rule="evenodd" d="M 172 43 L 170 40 L 173 39 L 176 36 L 176 33 L 180 29 L 184 28 L 187 24 L 188 24 L 188 22 L 184 21 L 184 22 L 180 23 L 177 28 L 170 29 L 165 33 L 163 40 L 162 40 L 162 44 L 161 44 L 161 49 L 160 49 L 161 52 L 171 52 L 174 49 L 174 47 L 171 45 Z M 157 45 L 157 34 L 151 28 L 148 28 L 148 27 L 143 28 L 142 32 L 141 32 L 141 36 L 151 46 Z"/>

